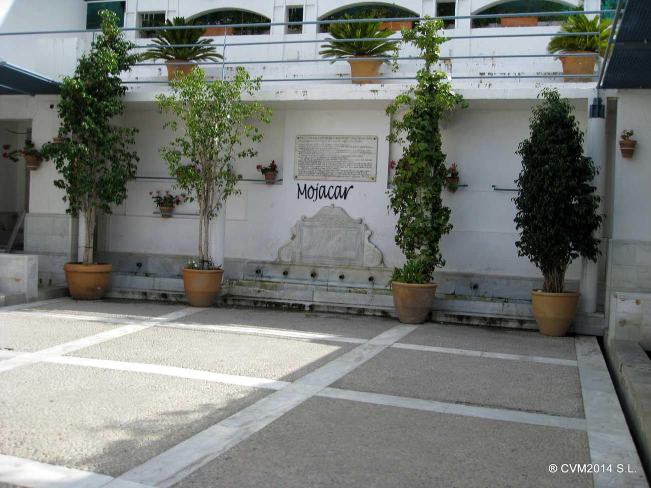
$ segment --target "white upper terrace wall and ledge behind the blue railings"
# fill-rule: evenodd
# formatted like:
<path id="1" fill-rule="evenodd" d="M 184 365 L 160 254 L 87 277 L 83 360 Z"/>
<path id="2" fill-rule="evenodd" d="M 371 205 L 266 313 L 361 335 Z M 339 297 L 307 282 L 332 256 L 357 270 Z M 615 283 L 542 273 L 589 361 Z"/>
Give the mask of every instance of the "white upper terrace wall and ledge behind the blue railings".
<path id="1" fill-rule="evenodd" d="M 5 12 L 0 12 L 0 34 L 3 34 L 0 57 L 11 64 L 53 79 L 74 72 L 77 57 L 89 49 L 97 32 L 97 29 L 92 28 L 92 11 L 100 7 L 118 10 L 128 38 L 141 51 L 145 51 L 151 44 L 146 33 L 153 28 L 146 27 L 148 20 L 185 16 L 205 20 L 208 25 L 214 18 L 224 20 L 220 14 L 230 14 L 237 10 L 247 13 L 246 16 L 242 14 L 240 22 L 247 21 L 234 23 L 234 20 L 230 20 L 229 26 L 234 27 L 235 35 L 227 35 L 232 29 L 223 29 L 222 34 L 211 35 L 216 51 L 223 54 L 224 59 L 201 63 L 209 76 L 228 79 L 236 66 L 243 65 L 251 74 L 263 75 L 263 88 L 269 91 L 269 96 L 274 100 L 282 100 L 289 92 L 300 94 L 305 90 L 305 94 L 309 94 L 310 88 L 316 87 L 319 87 L 320 96 L 328 98 L 327 92 L 334 90 L 337 94 L 333 94 L 333 98 L 340 99 L 341 90 L 326 87 L 326 84 L 344 85 L 348 94 L 345 99 L 378 96 L 384 99 L 376 90 L 377 86 L 372 87 L 372 90 L 368 87 L 351 87 L 347 62 L 340 60 L 331 63 L 318 54 L 321 44 L 329 36 L 324 32 L 327 24 L 337 14 L 350 11 L 351 8 L 380 5 L 390 7 L 385 11 L 387 19 L 413 21 L 426 14 L 437 14 L 443 18 L 446 23 L 445 35 L 449 41 L 442 46 L 439 69 L 454 77 L 456 87 L 481 90 L 481 98 L 486 96 L 485 88 L 492 88 L 492 94 L 488 98 L 531 98 L 531 94 L 538 92 L 540 83 L 564 85 L 568 96 L 572 96 L 577 90 L 592 89 L 598 77 L 598 74 L 593 74 L 585 77 L 585 83 L 564 83 L 561 62 L 546 52 L 549 38 L 559 31 L 559 21 L 572 14 L 570 7 L 579 8 L 577 0 L 533 1 L 527 4 L 530 7 L 527 16 L 538 16 L 537 25 L 508 29 L 500 28 L 495 21 L 521 16 L 520 13 L 508 10 L 508 7 L 517 7 L 519 4 L 494 0 L 398 0 L 391 5 L 330 0 L 290 7 L 286 6 L 286 2 L 258 0 L 247 2 L 247 8 L 250 9 L 247 11 L 227 0 L 177 3 L 157 0 L 62 0 L 57 3 L 54 11 L 48 11 L 48 6 L 43 7 L 42 3 L 35 9 L 33 7 L 36 5 L 30 6 L 31 3 L 34 2 L 14 2 Z M 612 15 L 615 10 L 602 10 L 611 7 L 611 3 L 613 2 L 608 0 L 586 0 L 583 11 L 588 16 Z M 550 9 L 550 6 L 557 8 Z M 503 10 L 511 13 L 503 13 Z M 258 23 L 249 23 L 251 19 Z M 393 37 L 400 38 L 400 33 L 396 32 Z M 395 73 L 388 66 L 383 66 L 378 83 L 412 83 L 421 63 L 415 49 L 411 46 L 403 47 L 398 55 L 398 63 L 400 68 Z M 130 74 L 125 74 L 125 82 L 136 92 L 132 95 L 133 100 L 152 100 L 152 93 L 165 90 L 165 71 L 162 61 L 146 61 L 135 66 Z M 393 92 L 398 88 L 385 86 L 383 89 Z M 305 94 L 299 98 L 305 98 Z M 297 96 L 290 95 L 291 98 Z"/>

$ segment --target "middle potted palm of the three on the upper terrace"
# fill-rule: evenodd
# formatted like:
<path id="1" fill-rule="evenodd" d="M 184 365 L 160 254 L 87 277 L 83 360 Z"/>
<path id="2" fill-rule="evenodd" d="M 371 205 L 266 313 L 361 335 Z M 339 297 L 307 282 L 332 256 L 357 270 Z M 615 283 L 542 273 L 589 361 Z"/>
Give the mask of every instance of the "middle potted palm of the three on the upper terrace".
<path id="1" fill-rule="evenodd" d="M 344 15 L 344 20 L 372 19 L 372 13 L 362 12 L 357 16 Z M 380 66 L 383 62 L 391 64 L 387 59 L 374 59 L 377 57 L 395 56 L 400 49 L 400 41 L 389 41 L 387 37 L 393 34 L 391 29 L 378 31 L 381 22 L 344 22 L 330 25 L 328 44 L 319 54 L 324 58 L 348 59 L 353 83 L 379 83 L 377 78 L 380 75 Z M 363 39 L 359 41 L 346 42 L 345 39 Z M 368 40 L 367 40 L 368 39 Z M 331 63 L 335 62 L 334 60 Z"/>

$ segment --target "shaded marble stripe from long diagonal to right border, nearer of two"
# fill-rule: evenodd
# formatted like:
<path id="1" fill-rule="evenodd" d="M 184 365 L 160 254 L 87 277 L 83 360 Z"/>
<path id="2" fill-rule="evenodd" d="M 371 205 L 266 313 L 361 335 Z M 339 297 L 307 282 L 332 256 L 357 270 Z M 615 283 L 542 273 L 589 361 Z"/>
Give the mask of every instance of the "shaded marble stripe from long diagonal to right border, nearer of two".
<path id="1" fill-rule="evenodd" d="M 505 422 L 517 422 L 518 424 L 561 427 L 562 429 L 585 431 L 585 420 L 583 418 L 561 417 L 517 410 L 492 409 L 488 407 L 473 407 L 472 405 L 461 405 L 459 403 L 422 400 L 421 398 L 408 398 L 380 393 L 357 392 L 353 390 L 342 390 L 340 388 L 324 388 L 316 396 L 339 400 L 361 401 L 363 403 L 374 403 L 375 405 L 387 405 L 389 407 L 400 407 L 426 412 L 504 420 Z"/>

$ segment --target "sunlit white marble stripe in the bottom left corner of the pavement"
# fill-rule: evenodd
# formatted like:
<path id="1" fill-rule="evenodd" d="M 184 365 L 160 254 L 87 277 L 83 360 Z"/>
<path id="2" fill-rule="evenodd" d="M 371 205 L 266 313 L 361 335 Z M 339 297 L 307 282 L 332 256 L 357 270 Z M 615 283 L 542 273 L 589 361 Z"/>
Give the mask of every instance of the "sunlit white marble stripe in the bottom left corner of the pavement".
<path id="1" fill-rule="evenodd" d="M 23 459 L 21 457 L 0 454 L 0 481 L 29 488 L 101 488 L 115 478 L 63 466 L 49 465 Z M 119 481 L 111 488 L 152 488 Z"/>

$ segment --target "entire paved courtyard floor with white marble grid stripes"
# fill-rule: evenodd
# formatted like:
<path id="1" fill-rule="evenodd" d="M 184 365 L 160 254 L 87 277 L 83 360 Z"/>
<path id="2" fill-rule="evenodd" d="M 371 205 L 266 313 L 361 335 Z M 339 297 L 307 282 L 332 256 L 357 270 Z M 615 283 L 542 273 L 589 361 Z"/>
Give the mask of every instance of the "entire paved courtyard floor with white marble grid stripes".
<path id="1" fill-rule="evenodd" d="M 0 308 L 16 486 L 648 485 L 595 338 L 55 299 Z"/>

